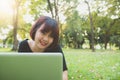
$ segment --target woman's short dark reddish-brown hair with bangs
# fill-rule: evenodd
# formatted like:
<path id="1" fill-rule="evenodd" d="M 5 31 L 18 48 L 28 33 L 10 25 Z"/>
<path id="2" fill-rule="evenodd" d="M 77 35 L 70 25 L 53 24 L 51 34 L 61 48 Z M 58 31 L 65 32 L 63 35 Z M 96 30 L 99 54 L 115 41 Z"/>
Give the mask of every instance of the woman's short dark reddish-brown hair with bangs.
<path id="1" fill-rule="evenodd" d="M 35 39 L 36 31 L 38 30 L 38 28 L 41 27 L 43 23 L 45 24 L 43 31 L 45 32 L 52 31 L 51 35 L 53 36 L 54 39 L 53 43 L 47 49 L 54 48 L 58 44 L 59 40 L 59 28 L 58 23 L 55 19 L 52 19 L 48 16 L 41 16 L 40 18 L 38 18 L 30 30 L 30 37 L 32 38 L 32 40 Z"/>

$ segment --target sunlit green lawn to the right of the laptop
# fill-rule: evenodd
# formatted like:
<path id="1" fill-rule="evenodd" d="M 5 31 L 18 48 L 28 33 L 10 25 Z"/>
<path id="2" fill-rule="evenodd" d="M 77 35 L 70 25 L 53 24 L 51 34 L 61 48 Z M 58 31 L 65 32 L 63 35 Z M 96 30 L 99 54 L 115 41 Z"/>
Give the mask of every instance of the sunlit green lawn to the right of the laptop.
<path id="1" fill-rule="evenodd" d="M 63 49 L 69 80 L 120 80 L 120 51 Z"/>

